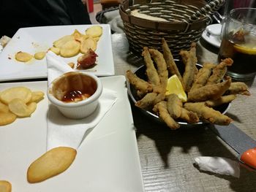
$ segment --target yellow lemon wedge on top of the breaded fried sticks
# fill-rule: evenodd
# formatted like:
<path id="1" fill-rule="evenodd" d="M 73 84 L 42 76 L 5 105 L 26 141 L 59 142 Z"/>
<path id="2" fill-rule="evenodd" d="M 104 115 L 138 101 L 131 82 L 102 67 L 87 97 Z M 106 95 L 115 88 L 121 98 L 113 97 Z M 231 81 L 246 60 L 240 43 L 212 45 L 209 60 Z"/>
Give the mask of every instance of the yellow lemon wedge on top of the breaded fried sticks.
<path id="1" fill-rule="evenodd" d="M 176 74 L 173 74 L 167 81 L 165 95 L 170 95 L 171 93 L 175 93 L 182 102 L 187 101 L 187 94 Z"/>

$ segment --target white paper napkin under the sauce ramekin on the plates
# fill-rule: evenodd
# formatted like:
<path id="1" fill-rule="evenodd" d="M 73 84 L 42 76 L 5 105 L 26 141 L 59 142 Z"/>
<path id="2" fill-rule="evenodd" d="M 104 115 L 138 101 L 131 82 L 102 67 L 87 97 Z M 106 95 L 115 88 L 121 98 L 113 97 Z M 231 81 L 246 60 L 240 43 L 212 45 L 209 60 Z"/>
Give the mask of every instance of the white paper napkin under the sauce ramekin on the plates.
<path id="1" fill-rule="evenodd" d="M 74 71 L 61 57 L 51 51 L 47 53 L 46 61 L 48 66 L 48 85 L 61 74 Z M 97 110 L 89 117 L 80 120 L 64 117 L 57 107 L 49 104 L 47 150 L 59 146 L 78 149 L 83 137 L 86 135 L 86 131 L 97 126 L 99 121 L 113 107 L 113 104 L 116 103 L 116 100 L 116 92 L 103 87 Z"/>

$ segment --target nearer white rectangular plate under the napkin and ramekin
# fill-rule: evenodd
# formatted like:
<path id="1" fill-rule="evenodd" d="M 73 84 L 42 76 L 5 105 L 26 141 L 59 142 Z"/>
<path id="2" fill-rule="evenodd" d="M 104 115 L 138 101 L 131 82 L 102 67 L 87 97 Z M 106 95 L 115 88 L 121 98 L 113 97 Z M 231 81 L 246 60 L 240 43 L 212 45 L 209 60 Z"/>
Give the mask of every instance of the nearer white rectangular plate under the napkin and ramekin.
<path id="1" fill-rule="evenodd" d="M 118 101 L 78 148 L 65 172 L 41 183 L 26 180 L 29 165 L 46 151 L 48 99 L 39 102 L 31 118 L 0 126 L 0 180 L 12 191 L 144 191 L 138 146 L 124 76 L 102 77 L 104 88 L 117 92 Z M 46 91 L 47 82 L 2 83 Z"/>

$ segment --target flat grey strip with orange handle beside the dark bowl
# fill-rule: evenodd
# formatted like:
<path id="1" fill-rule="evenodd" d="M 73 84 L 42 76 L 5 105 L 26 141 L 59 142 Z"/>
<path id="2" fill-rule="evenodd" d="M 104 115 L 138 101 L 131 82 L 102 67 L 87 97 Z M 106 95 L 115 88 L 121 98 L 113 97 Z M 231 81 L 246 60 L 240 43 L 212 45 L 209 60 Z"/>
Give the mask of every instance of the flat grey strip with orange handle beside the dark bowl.
<path id="1" fill-rule="evenodd" d="M 228 126 L 209 124 L 208 127 L 238 153 L 238 161 L 241 165 L 256 171 L 256 141 L 254 139 L 233 123 Z"/>

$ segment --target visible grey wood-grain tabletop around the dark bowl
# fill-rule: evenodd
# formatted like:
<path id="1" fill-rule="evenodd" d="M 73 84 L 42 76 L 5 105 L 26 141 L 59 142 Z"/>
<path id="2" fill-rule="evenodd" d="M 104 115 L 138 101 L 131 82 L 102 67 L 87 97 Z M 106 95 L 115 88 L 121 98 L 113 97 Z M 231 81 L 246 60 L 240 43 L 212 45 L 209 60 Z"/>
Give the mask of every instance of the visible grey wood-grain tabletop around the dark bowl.
<path id="1" fill-rule="evenodd" d="M 129 51 L 124 34 L 113 34 L 116 74 L 134 71 L 142 59 Z M 217 63 L 217 48 L 203 39 L 197 43 L 197 59 Z M 256 139 L 256 82 L 246 82 L 251 96 L 238 96 L 227 115 L 242 131 Z M 236 160 L 236 152 L 206 127 L 179 128 L 171 131 L 132 106 L 137 129 L 138 150 L 145 191 L 256 191 L 256 174 L 241 167 L 240 178 L 200 172 L 197 156 L 219 156 Z"/>

